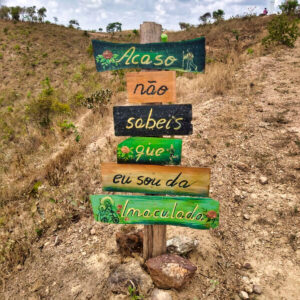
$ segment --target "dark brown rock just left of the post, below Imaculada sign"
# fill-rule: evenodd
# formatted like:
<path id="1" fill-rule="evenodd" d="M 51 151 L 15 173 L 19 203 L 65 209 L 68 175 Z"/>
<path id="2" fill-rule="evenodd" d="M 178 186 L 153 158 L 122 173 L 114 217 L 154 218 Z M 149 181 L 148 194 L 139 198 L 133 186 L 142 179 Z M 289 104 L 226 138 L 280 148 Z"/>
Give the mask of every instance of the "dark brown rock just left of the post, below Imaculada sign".
<path id="1" fill-rule="evenodd" d="M 116 233 L 116 242 L 123 256 L 131 256 L 133 252 L 141 253 L 143 250 L 143 231 L 119 231 Z"/>

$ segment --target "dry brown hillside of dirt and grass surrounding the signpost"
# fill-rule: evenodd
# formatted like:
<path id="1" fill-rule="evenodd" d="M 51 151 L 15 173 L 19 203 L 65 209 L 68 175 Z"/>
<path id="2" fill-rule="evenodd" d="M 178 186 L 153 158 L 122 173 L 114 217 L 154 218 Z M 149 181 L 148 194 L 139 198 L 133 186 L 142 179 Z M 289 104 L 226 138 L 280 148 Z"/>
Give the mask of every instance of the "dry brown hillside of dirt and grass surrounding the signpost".
<path id="1" fill-rule="evenodd" d="M 34 73 L 26 75 L 27 60 L 38 52 L 31 53 L 20 68 L 24 52 L 12 51 L 16 41 L 19 50 L 27 51 L 28 38 L 23 40 L 17 32 L 29 29 L 26 24 L 4 26 L 11 35 L 1 32 L 1 44 L 10 47 L 0 61 L 5 95 L 1 116 L 16 134 L 1 144 L 0 298 L 126 299 L 112 295 L 106 281 L 124 262 L 115 244 L 120 228 L 96 224 L 88 202 L 89 194 L 102 191 L 100 163 L 116 161 L 116 145 L 122 140 L 114 137 L 112 123 L 112 106 L 126 104 L 126 93 L 120 89 L 122 75 L 97 74 L 86 52 L 89 38 L 57 26 L 43 29 L 49 36 L 31 29 L 32 45 L 42 47 L 34 46 L 35 51 L 44 53 L 47 48 L 52 54 L 45 62 L 39 58 L 30 67 Z M 296 299 L 300 292 L 300 43 L 260 57 L 257 42 L 262 25 L 252 32 L 253 38 L 249 32 L 242 34 L 247 25 L 235 24 L 244 36 L 240 43 L 230 31 L 235 27 L 226 22 L 220 26 L 229 26 L 226 34 L 219 40 L 208 39 L 214 62 L 205 75 L 178 77 L 177 96 L 179 103 L 193 104 L 194 134 L 183 138 L 182 165 L 212 169 L 211 197 L 220 201 L 221 225 L 212 231 L 168 226 L 168 237 L 188 235 L 200 241 L 189 257 L 198 267 L 195 278 L 182 291 L 170 293 L 173 299 L 230 299 L 253 282 L 263 288 L 256 299 Z M 218 27 L 210 30 L 224 32 Z M 184 39 L 182 34 L 178 39 Z M 189 32 L 187 38 L 194 37 L 190 34 L 200 32 Z M 175 35 L 170 33 L 173 40 Z M 257 57 L 245 55 L 250 46 Z M 58 65 L 53 62 L 57 59 Z M 25 122 L 28 131 L 22 131 L 24 124 L 14 126 L 14 118 L 24 115 L 24 103 L 38 95 L 46 76 L 61 101 L 71 107 L 78 91 L 88 96 L 101 86 L 110 88 L 114 96 L 100 111 L 74 107 L 68 115 L 54 116 L 52 129 Z M 27 97 L 28 87 L 33 96 Z M 11 90 L 20 96 L 8 97 Z M 8 112 L 15 115 L 8 117 Z M 65 118 L 78 127 L 79 143 L 57 125 Z M 261 176 L 268 183 L 262 185 Z M 243 268 L 246 262 L 250 269 Z"/>

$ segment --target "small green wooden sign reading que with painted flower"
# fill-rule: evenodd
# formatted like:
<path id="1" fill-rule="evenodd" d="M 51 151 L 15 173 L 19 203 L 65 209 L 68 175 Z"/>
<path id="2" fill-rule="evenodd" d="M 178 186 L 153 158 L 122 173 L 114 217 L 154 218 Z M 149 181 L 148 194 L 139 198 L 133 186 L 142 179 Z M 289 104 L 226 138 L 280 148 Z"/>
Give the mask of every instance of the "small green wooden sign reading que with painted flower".
<path id="1" fill-rule="evenodd" d="M 131 137 L 118 145 L 118 163 L 179 165 L 182 140 Z"/>

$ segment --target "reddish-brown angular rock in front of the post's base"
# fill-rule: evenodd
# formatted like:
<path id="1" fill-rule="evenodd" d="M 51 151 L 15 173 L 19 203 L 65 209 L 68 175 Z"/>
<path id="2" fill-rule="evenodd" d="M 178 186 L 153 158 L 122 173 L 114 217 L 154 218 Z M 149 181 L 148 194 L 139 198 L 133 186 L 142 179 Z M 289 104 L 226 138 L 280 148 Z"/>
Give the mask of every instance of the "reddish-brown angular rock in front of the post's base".
<path id="1" fill-rule="evenodd" d="M 164 289 L 180 289 L 195 274 L 197 267 L 175 254 L 164 254 L 146 262 L 155 285 Z"/>

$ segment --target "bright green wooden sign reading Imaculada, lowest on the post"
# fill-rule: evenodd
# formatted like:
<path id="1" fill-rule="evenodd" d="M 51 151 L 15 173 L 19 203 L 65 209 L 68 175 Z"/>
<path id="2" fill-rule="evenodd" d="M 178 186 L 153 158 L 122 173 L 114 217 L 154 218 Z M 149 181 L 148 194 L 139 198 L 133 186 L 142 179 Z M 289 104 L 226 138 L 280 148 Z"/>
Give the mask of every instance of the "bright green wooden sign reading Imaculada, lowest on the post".
<path id="1" fill-rule="evenodd" d="M 113 224 L 164 224 L 197 229 L 219 225 L 219 202 L 210 198 L 90 196 L 96 221 Z"/>

